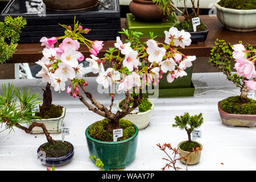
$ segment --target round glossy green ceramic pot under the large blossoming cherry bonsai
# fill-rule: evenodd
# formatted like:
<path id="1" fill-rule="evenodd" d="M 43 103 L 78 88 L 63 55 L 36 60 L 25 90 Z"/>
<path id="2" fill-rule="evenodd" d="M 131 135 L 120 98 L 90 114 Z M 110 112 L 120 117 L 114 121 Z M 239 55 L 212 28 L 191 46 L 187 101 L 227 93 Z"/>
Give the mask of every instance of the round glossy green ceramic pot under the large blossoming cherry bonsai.
<path id="1" fill-rule="evenodd" d="M 121 169 L 133 162 L 138 142 L 138 127 L 135 127 L 135 134 L 126 140 L 119 142 L 102 142 L 93 139 L 88 134 L 89 127 L 85 131 L 85 136 L 89 148 L 89 154 L 101 159 L 104 169 Z M 94 161 L 94 160 L 93 160 Z"/>

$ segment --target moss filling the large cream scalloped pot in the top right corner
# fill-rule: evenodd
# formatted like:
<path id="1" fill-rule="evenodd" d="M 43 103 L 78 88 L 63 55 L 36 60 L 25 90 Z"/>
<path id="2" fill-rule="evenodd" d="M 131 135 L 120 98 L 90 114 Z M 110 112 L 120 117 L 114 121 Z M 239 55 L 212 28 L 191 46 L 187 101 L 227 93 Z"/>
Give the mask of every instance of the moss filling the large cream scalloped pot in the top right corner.
<path id="1" fill-rule="evenodd" d="M 218 4 L 222 7 L 237 10 L 256 9 L 256 0 L 221 0 Z"/>

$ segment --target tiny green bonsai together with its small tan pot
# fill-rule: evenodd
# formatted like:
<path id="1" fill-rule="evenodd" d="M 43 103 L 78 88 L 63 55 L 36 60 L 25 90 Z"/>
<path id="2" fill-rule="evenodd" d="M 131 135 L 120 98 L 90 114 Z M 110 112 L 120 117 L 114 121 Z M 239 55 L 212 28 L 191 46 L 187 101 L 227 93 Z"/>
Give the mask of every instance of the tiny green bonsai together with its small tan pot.
<path id="1" fill-rule="evenodd" d="M 179 127 L 181 130 L 187 131 L 188 134 L 188 140 L 178 144 L 179 153 L 181 154 L 180 157 L 187 156 L 187 158 L 189 158 L 187 161 L 184 159 L 180 160 L 184 164 L 193 165 L 199 163 L 200 161 L 201 150 L 203 149 L 203 146 L 199 142 L 192 141 L 191 133 L 194 129 L 200 127 L 203 122 L 204 118 L 202 113 L 192 116 L 190 116 L 189 113 L 185 113 L 180 117 L 175 117 L 175 124 L 173 124 L 172 127 Z M 195 148 L 200 148 L 200 150 L 192 152 L 195 150 Z"/>

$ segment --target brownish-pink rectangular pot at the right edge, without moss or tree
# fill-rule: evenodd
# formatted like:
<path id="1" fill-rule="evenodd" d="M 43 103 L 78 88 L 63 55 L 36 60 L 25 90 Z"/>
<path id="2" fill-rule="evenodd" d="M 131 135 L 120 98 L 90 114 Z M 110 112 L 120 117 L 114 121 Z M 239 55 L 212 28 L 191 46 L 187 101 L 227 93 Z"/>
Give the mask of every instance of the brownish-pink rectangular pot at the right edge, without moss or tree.
<path id="1" fill-rule="evenodd" d="M 227 126 L 247 126 L 255 128 L 256 114 L 229 114 L 221 110 L 220 102 L 218 102 L 218 112 L 224 125 Z"/>

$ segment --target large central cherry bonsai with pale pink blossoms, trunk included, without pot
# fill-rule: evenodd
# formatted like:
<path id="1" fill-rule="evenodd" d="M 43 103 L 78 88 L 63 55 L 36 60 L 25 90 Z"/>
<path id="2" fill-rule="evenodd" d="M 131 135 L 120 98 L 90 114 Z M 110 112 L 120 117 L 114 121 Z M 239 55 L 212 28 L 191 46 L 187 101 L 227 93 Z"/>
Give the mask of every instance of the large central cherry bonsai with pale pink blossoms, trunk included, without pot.
<path id="1" fill-rule="evenodd" d="M 78 97 L 89 110 L 110 119 L 105 130 L 111 132 L 121 128 L 119 119 L 131 113 L 141 104 L 144 86 L 157 85 L 163 73 L 168 73 L 168 82 L 186 76 L 187 73 L 184 70 L 191 67 L 191 61 L 196 59 L 196 56 L 186 56 L 177 51 L 177 46 L 184 48 L 191 44 L 191 35 L 188 32 L 178 31 L 175 27 L 171 27 L 170 31 L 165 32 L 165 44 L 156 42 L 152 33 L 150 40 L 141 43 L 139 41 L 140 32 L 129 34 L 127 30 L 123 30 L 121 33 L 127 36 L 126 43 L 117 37 L 114 47 L 109 48 L 102 58 L 97 57 L 97 53 L 103 46 L 101 41 L 89 41 L 81 34 L 78 35 L 79 30 L 77 31 L 76 27 L 73 31 L 68 26 L 64 27 L 66 31 L 65 36 L 62 37 L 64 38 L 63 42 L 57 47 L 44 48 L 44 57 L 37 62 L 42 65 L 41 72 L 44 72 L 40 76 L 43 77 L 44 82 L 51 84 L 55 91 L 67 90 L 68 94 Z M 85 60 L 89 62 L 92 72 L 98 74 L 96 82 L 111 90 L 109 108 L 100 104 L 92 93 L 86 90 L 88 83 L 82 78 L 85 68 L 82 63 L 79 63 L 83 60 L 81 52 L 79 52 L 80 44 L 86 44 L 92 53 Z M 112 67 L 103 72 L 101 63 L 106 61 L 112 63 Z M 70 82 L 67 88 L 66 81 Z M 116 91 L 124 92 L 126 97 L 122 111 L 113 113 L 112 106 Z M 82 96 L 82 92 L 86 97 Z M 134 105 L 129 107 L 131 94 L 133 94 Z"/>

